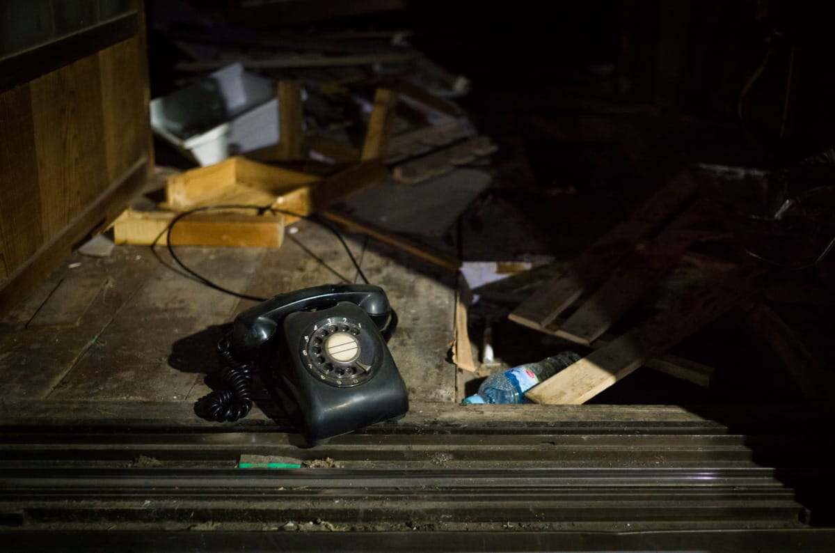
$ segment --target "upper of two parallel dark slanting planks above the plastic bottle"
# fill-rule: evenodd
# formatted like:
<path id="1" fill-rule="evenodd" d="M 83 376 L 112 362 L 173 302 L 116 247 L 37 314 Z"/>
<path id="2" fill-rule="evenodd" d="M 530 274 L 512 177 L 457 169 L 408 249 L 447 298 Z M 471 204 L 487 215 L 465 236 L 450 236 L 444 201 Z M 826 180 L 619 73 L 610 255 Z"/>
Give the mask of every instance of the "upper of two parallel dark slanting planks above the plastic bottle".
<path id="1" fill-rule="evenodd" d="M 554 321 L 583 292 L 594 290 L 635 246 L 696 193 L 688 170 L 655 192 L 629 219 L 615 226 L 579 256 L 559 277 L 546 282 L 510 314 L 510 319 L 541 329 Z"/>

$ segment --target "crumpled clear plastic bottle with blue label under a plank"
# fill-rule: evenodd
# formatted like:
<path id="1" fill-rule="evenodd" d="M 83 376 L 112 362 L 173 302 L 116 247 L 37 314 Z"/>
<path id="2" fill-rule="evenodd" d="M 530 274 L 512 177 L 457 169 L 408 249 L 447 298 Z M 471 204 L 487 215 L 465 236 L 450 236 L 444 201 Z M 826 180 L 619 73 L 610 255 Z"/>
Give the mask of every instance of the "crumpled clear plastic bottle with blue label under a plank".
<path id="1" fill-rule="evenodd" d="M 493 373 L 478 387 L 478 393 L 461 403 L 531 403 L 524 393 L 540 382 L 579 361 L 574 352 L 557 353 L 539 363 L 525 363 L 501 373 Z"/>

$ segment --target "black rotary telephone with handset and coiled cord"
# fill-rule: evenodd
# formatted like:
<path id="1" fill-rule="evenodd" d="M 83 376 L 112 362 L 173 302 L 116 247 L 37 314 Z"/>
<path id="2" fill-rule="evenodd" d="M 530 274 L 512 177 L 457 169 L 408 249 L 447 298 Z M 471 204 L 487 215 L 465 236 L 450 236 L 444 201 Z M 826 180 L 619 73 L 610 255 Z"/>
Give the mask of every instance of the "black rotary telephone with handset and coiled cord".
<path id="1" fill-rule="evenodd" d="M 402 417 L 408 394 L 386 345 L 396 326 L 385 292 L 371 285 L 305 288 L 251 307 L 218 343 L 227 389 L 209 396 L 209 415 L 245 417 L 252 372 L 266 367 L 311 444 Z"/>

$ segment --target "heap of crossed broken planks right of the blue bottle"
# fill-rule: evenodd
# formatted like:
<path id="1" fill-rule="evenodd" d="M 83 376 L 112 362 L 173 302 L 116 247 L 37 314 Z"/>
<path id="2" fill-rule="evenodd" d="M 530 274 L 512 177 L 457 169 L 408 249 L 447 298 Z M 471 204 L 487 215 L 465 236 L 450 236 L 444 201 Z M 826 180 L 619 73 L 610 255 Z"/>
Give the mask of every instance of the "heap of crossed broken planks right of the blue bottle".
<path id="1" fill-rule="evenodd" d="M 689 171 L 682 171 L 510 314 L 514 322 L 595 348 L 532 389 L 532 401 L 584 403 L 643 364 L 709 383 L 712 368 L 658 356 L 762 287 L 761 271 L 734 263 L 707 264 L 705 277 L 690 282 L 660 312 L 621 336 L 607 332 L 676 266 L 691 244 L 726 236 L 691 228 L 703 222 L 701 203 L 691 203 L 695 192 Z M 676 211 L 681 215 L 670 222 Z M 578 301 L 569 317 L 560 318 Z"/>

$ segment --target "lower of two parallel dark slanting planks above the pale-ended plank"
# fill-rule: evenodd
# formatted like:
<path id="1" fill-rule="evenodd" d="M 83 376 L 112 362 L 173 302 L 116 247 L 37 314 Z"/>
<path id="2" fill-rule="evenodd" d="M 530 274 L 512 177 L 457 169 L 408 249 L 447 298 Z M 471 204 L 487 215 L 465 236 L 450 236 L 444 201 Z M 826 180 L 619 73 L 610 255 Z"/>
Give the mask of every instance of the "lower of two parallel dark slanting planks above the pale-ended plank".
<path id="1" fill-rule="evenodd" d="M 558 335 L 590 346 L 681 259 L 695 239 L 691 232 L 665 233 L 635 251 L 559 327 Z"/>

